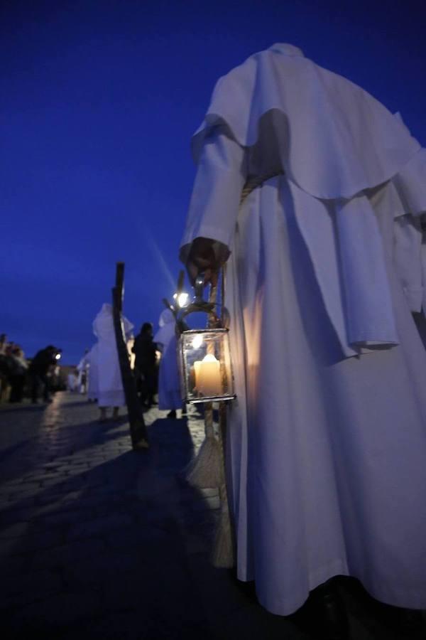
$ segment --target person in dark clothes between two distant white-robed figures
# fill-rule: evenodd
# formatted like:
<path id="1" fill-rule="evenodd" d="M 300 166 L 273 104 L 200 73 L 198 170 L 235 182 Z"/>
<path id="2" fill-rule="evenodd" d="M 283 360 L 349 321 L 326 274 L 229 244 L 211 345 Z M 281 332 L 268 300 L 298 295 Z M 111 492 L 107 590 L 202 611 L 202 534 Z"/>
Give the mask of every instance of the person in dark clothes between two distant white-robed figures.
<path id="1" fill-rule="evenodd" d="M 156 345 L 153 341 L 151 322 L 144 322 L 141 326 L 141 332 L 135 338 L 132 351 L 136 356 L 135 368 L 141 402 L 145 407 L 150 408 L 155 404 L 154 395 L 158 380 Z"/>

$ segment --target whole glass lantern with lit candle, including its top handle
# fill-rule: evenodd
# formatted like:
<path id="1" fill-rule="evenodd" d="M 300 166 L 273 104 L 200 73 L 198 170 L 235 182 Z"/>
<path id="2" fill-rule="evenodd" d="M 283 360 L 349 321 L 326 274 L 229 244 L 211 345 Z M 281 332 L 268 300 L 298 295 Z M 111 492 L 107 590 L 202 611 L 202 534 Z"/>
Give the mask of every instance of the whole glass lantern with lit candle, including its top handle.
<path id="1" fill-rule="evenodd" d="M 229 350 L 229 329 L 226 326 L 227 311 L 222 310 L 222 318 L 214 312 L 219 306 L 202 299 L 201 277 L 195 284 L 195 299 L 182 313 L 178 328 L 178 361 L 182 400 L 196 402 L 214 402 L 233 400 L 234 378 Z M 190 313 L 205 311 L 209 315 L 208 329 L 188 329 L 183 318 Z"/>

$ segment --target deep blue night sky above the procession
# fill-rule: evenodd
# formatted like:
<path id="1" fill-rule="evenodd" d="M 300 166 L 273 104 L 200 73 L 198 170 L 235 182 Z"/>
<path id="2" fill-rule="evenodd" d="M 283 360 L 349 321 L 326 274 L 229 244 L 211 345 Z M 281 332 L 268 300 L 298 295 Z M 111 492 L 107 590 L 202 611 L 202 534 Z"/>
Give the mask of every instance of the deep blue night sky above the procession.
<path id="1" fill-rule="evenodd" d="M 180 269 L 191 134 L 217 78 L 274 42 L 399 110 L 425 145 L 426 9 L 347 5 L 0 0 L 0 332 L 77 362 L 116 260 L 126 316 L 157 321 Z"/>

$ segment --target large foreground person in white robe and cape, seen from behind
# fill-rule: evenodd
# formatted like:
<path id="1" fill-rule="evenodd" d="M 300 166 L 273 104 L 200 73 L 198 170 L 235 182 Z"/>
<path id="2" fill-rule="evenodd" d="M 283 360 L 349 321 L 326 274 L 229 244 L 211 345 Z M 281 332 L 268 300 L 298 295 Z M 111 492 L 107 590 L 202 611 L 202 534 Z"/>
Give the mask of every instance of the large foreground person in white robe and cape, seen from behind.
<path id="1" fill-rule="evenodd" d="M 229 258 L 239 579 L 280 615 L 336 575 L 425 609 L 425 150 L 281 43 L 219 80 L 192 149 L 181 260 Z"/>

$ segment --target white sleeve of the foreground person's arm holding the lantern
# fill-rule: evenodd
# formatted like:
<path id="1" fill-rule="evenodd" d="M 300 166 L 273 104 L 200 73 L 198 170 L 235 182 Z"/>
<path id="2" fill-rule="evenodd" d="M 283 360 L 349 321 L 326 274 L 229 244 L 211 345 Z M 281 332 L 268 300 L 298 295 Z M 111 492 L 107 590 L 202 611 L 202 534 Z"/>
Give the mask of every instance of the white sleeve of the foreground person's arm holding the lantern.
<path id="1" fill-rule="evenodd" d="M 231 247 L 245 181 L 244 147 L 215 128 L 200 154 L 181 255 L 195 238 Z"/>

